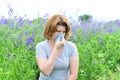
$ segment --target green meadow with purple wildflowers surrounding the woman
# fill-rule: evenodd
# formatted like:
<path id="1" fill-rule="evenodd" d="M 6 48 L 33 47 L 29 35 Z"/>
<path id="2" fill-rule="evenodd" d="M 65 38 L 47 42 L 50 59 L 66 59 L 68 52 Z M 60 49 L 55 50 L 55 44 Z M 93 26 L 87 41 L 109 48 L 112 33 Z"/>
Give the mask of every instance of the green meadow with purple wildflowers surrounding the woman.
<path id="1" fill-rule="evenodd" d="M 0 16 L 0 80 L 37 80 L 36 44 L 45 40 L 43 30 L 48 14 L 29 20 Z M 71 22 L 69 39 L 79 51 L 77 80 L 120 80 L 120 20 L 97 21 L 92 18 Z"/>

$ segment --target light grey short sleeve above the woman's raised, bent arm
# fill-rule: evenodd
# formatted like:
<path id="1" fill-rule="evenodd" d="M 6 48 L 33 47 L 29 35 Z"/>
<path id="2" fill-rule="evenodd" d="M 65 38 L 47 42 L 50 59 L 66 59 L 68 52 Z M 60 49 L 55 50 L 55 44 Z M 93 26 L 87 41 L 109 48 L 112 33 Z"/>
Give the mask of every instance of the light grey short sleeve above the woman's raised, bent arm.
<path id="1" fill-rule="evenodd" d="M 36 57 L 47 58 L 46 50 L 41 44 L 36 45 Z"/>

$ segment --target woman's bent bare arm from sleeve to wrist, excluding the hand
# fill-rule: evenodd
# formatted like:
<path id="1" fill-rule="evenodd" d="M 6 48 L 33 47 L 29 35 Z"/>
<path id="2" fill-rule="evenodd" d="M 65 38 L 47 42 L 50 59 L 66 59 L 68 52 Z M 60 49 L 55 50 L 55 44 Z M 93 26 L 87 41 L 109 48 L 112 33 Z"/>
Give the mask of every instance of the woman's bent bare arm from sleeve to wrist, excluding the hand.
<path id="1" fill-rule="evenodd" d="M 49 59 L 45 59 L 45 58 L 36 59 L 40 71 L 43 72 L 43 74 L 46 76 L 49 76 L 54 68 L 56 57 L 57 57 L 56 53 L 57 53 L 57 50 L 54 49 Z"/>

